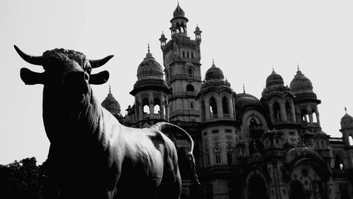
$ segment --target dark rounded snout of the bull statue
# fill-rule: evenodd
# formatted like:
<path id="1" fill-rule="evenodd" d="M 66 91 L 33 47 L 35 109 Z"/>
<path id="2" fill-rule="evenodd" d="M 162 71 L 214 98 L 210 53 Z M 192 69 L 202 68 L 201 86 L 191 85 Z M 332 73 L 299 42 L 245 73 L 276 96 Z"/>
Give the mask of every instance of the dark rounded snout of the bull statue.
<path id="1" fill-rule="evenodd" d="M 85 71 L 71 71 L 66 73 L 63 81 L 63 89 L 72 97 L 86 95 L 89 90 L 90 76 Z"/>

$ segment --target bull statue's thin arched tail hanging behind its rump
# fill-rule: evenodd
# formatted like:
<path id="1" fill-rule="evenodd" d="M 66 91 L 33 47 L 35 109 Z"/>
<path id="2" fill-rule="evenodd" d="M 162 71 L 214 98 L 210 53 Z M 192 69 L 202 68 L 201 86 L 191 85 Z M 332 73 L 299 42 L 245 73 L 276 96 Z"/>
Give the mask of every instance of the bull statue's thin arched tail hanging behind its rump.
<path id="1" fill-rule="evenodd" d="M 187 133 L 183 128 L 180 128 L 177 125 L 174 125 L 172 123 L 167 123 L 164 121 L 155 123 L 155 125 L 151 126 L 150 128 L 154 128 L 154 129 L 161 131 L 161 132 L 168 129 L 168 130 L 170 130 L 169 132 L 171 132 L 171 133 L 174 132 L 172 130 L 177 130 L 178 133 L 180 133 L 181 135 L 186 137 L 186 140 L 188 140 L 188 142 L 190 143 L 190 151 L 186 152 L 188 164 L 190 166 L 191 173 L 193 175 L 193 179 L 196 181 L 196 183 L 200 184 L 200 182 L 198 181 L 198 174 L 196 173 L 195 157 L 193 157 L 193 139 L 191 138 L 189 133 Z"/>

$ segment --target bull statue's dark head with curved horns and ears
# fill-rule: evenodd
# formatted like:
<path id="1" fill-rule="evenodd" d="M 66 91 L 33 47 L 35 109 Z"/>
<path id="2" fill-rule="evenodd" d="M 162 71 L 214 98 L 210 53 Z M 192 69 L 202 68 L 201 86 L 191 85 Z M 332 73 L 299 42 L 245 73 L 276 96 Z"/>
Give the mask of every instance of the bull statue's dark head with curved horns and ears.
<path id="1" fill-rule="evenodd" d="M 100 60 L 88 60 L 85 55 L 73 50 L 54 49 L 44 52 L 42 56 L 30 56 L 22 52 L 16 45 L 16 52 L 30 64 L 43 66 L 44 72 L 37 73 L 28 68 L 20 69 L 20 78 L 27 85 L 43 84 L 61 88 L 69 94 L 85 95 L 89 84 L 100 85 L 109 78 L 108 71 L 91 74 L 92 68 L 98 68 L 113 55 Z"/>

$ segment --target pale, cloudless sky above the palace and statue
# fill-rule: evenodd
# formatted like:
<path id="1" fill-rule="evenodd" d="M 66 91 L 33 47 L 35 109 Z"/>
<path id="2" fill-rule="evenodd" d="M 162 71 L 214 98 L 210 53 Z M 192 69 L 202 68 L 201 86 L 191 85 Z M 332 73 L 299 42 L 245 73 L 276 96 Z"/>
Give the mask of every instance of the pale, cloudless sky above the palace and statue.
<path id="1" fill-rule="evenodd" d="M 313 83 L 325 133 L 340 137 L 340 119 L 353 112 L 353 1 L 179 1 L 189 18 L 189 37 L 201 37 L 202 76 L 215 59 L 232 88 L 258 98 L 272 67 L 290 83 L 301 71 Z M 0 164 L 47 158 L 42 121 L 42 85 L 24 85 L 26 63 L 13 49 L 41 55 L 47 49 L 83 52 L 89 59 L 114 58 L 102 70 L 109 82 L 94 86 L 100 102 L 112 93 L 126 109 L 138 64 L 151 52 L 162 64 L 160 35 L 170 38 L 177 1 L 13 1 L 0 3 Z M 96 70 L 100 71 L 100 70 Z"/>

